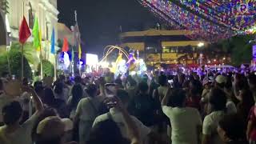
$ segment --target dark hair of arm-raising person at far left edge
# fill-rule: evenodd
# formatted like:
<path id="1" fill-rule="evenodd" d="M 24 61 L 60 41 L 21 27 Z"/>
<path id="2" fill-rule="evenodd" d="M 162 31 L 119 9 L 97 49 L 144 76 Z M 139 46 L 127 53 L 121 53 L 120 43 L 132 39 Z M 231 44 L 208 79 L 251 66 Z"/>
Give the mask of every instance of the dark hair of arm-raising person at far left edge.
<path id="1" fill-rule="evenodd" d="M 22 117 L 22 106 L 19 102 L 10 102 L 2 108 L 3 122 L 8 125 L 13 125 Z"/>

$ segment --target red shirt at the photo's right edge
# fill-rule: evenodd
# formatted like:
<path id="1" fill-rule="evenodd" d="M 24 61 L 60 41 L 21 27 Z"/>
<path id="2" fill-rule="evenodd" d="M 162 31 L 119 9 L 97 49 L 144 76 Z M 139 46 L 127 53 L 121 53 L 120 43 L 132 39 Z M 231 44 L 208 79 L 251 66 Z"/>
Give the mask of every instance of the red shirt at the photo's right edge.
<path id="1" fill-rule="evenodd" d="M 250 108 L 249 120 L 253 123 L 253 128 L 250 131 L 250 140 L 256 141 L 256 106 Z"/>

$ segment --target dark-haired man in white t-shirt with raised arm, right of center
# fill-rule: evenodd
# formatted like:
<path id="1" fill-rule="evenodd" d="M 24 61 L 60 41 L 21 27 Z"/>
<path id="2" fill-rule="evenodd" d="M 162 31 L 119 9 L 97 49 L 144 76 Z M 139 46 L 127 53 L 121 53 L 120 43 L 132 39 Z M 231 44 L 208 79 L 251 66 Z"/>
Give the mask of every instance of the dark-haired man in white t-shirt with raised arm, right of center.
<path id="1" fill-rule="evenodd" d="M 167 106 L 169 102 L 172 106 Z M 198 144 L 202 119 L 198 110 L 185 107 L 186 93 L 183 90 L 167 90 L 162 99 L 162 111 L 172 126 L 172 144 Z"/>

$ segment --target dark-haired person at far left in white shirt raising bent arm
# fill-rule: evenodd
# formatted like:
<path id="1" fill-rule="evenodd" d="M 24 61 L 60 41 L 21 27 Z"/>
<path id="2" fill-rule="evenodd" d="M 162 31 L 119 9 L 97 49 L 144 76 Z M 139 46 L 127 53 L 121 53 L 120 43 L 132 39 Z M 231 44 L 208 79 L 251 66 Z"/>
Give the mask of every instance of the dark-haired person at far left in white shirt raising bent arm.
<path id="1" fill-rule="evenodd" d="M 10 102 L 2 108 L 4 126 L 0 127 L 1 144 L 32 144 L 31 133 L 38 115 L 42 112 L 43 106 L 40 98 L 29 86 L 23 86 L 23 91 L 32 94 L 36 112 L 26 122 L 19 124 L 22 119 L 22 106 L 19 102 Z"/>

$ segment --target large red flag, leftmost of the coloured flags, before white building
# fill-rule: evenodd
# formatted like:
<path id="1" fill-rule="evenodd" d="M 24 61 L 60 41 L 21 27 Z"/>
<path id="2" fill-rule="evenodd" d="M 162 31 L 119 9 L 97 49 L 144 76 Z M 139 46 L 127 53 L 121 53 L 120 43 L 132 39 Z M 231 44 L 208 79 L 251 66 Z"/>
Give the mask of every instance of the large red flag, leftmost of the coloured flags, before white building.
<path id="1" fill-rule="evenodd" d="M 27 38 L 30 38 L 30 35 L 31 35 L 30 28 L 27 25 L 26 18 L 23 16 L 22 24 L 19 27 L 19 33 L 18 33 L 19 42 L 24 44 L 26 42 Z"/>

